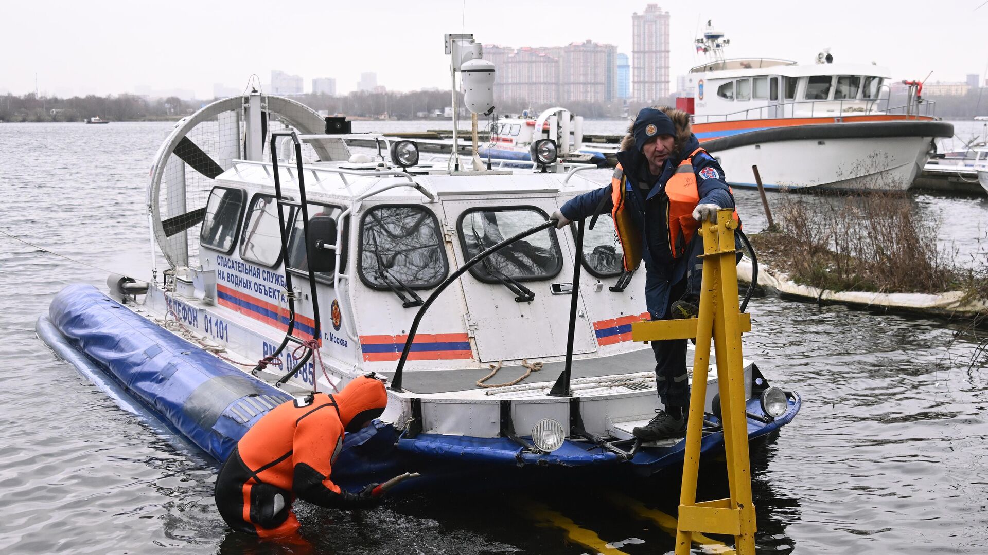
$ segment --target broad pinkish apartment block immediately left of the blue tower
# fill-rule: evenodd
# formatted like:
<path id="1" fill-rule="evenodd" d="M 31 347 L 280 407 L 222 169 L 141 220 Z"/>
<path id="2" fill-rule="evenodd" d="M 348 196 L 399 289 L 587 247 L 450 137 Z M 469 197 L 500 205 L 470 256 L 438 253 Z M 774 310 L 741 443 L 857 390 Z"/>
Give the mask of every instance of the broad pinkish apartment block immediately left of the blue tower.
<path id="1" fill-rule="evenodd" d="M 591 40 L 562 47 L 559 102 L 613 102 L 617 97 L 617 46 Z"/>

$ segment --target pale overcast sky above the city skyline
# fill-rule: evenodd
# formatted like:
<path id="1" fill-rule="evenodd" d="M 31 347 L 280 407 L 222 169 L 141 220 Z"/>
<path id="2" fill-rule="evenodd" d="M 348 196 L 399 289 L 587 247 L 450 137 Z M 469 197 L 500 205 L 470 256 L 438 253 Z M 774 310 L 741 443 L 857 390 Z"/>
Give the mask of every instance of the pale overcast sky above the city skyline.
<path id="1" fill-rule="evenodd" d="M 449 87 L 443 35 L 472 33 L 505 46 L 595 40 L 631 54 L 627 0 L 330 0 L 4 3 L 0 93 L 49 95 L 242 89 L 271 70 L 335 77 L 356 88 L 361 72 L 389 90 Z M 988 66 L 988 0 L 659 2 L 670 13 L 671 85 L 699 63 L 693 40 L 707 19 L 731 40 L 728 57 L 877 62 L 896 79 L 963 81 Z"/>

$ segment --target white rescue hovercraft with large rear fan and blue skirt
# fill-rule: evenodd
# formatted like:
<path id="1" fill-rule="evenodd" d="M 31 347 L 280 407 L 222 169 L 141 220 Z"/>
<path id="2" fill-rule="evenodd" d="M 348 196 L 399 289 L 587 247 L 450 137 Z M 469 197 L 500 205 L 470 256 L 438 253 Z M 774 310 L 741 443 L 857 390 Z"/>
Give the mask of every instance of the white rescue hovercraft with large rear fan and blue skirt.
<path id="1" fill-rule="evenodd" d="M 682 460 L 681 439 L 631 435 L 659 406 L 652 350 L 630 341 L 643 273 L 622 273 L 610 216 L 582 245 L 548 219 L 598 184 L 557 173 L 548 140 L 535 171 L 455 172 L 379 135 L 390 159 L 361 162 L 325 125 L 256 92 L 180 123 L 147 198 L 166 264 L 109 295 L 66 287 L 40 337 L 218 460 L 279 403 L 371 372 L 387 408 L 347 436 L 334 480 Z M 706 391 L 704 449 L 722 441 Z M 745 392 L 752 437 L 800 407 L 750 362 Z"/>

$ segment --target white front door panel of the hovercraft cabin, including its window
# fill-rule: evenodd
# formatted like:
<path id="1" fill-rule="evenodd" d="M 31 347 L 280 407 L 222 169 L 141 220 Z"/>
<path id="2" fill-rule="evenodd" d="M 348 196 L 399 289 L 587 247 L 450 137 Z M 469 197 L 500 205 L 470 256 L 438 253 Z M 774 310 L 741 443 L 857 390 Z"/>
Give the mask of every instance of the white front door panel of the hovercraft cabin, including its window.
<path id="1" fill-rule="evenodd" d="M 482 250 L 545 221 L 554 198 L 490 198 L 444 202 L 454 227 L 456 267 Z M 466 298 L 467 328 L 482 362 L 557 357 L 566 353 L 573 253 L 569 229 L 544 229 L 508 245 L 459 278 Z M 518 300 L 522 298 L 523 300 Z M 578 303 L 574 353 L 596 347 L 590 318 Z"/>

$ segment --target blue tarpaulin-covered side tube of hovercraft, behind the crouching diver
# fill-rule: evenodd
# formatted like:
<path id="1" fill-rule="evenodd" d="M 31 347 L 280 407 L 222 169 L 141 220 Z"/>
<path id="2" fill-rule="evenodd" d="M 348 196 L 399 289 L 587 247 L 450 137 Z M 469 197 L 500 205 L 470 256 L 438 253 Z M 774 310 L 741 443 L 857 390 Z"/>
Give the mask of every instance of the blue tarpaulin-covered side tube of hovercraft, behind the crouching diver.
<path id="1" fill-rule="evenodd" d="M 73 347 L 220 461 L 254 423 L 291 398 L 92 285 L 59 291 L 48 318 Z"/>

